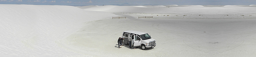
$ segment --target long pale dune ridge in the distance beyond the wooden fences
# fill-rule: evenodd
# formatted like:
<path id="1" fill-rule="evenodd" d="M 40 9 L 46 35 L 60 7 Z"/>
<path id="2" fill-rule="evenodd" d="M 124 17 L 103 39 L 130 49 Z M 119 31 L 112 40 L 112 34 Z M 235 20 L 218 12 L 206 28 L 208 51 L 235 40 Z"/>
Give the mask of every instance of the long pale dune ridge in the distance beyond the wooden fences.
<path id="1" fill-rule="evenodd" d="M 232 7 L 209 7 L 205 8 L 201 5 L 192 5 L 192 6 L 184 6 L 184 7 L 169 7 L 169 8 L 141 8 L 141 7 L 132 7 L 132 6 L 99 6 L 99 7 L 91 7 L 84 10 L 91 11 L 104 11 L 110 13 L 176 13 L 176 14 L 243 14 L 243 13 L 255 13 L 254 7 L 244 7 L 239 8 Z M 236 12 L 242 11 L 242 12 Z"/>

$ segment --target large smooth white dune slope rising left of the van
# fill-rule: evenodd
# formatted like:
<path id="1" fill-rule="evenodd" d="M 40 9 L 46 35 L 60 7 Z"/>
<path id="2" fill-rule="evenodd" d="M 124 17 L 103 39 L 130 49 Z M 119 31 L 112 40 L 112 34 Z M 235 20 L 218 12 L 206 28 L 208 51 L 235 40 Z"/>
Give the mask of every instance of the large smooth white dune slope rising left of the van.
<path id="1" fill-rule="evenodd" d="M 73 6 L 1 4 L 0 7 L 1 57 L 79 56 L 56 42 L 84 22 L 116 16 Z"/>

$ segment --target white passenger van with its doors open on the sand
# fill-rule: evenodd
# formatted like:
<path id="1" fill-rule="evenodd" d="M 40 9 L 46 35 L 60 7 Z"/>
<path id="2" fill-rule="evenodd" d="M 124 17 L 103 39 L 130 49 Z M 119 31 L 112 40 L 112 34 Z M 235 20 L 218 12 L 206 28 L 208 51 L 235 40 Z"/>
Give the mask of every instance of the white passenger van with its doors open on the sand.
<path id="1" fill-rule="evenodd" d="M 156 47 L 157 45 L 156 40 L 151 38 L 148 33 L 133 30 L 124 31 L 122 38 L 124 38 L 125 45 L 129 45 L 129 37 L 132 38 L 131 44 L 133 47 L 141 46 L 143 50 L 146 50 L 148 47 Z"/>

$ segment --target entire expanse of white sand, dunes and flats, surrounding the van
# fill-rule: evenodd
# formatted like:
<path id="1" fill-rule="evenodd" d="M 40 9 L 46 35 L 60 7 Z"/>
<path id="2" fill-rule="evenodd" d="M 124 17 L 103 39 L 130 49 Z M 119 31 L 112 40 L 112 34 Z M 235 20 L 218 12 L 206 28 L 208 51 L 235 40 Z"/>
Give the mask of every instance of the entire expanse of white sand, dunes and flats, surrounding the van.
<path id="1" fill-rule="evenodd" d="M 173 6 L 0 4 L 0 57 L 256 56 L 256 7 Z M 126 30 L 149 33 L 158 45 L 117 48 Z"/>

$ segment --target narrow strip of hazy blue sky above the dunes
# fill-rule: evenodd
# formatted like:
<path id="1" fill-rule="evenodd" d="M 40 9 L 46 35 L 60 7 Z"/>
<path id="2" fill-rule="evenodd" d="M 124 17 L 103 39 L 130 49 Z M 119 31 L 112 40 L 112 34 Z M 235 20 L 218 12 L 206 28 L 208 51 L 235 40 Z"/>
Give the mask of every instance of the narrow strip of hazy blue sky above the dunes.
<path id="1" fill-rule="evenodd" d="M 256 0 L 1 0 L 0 4 L 33 5 L 252 5 Z"/>

